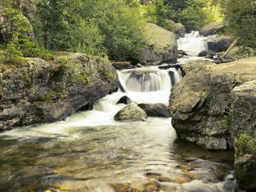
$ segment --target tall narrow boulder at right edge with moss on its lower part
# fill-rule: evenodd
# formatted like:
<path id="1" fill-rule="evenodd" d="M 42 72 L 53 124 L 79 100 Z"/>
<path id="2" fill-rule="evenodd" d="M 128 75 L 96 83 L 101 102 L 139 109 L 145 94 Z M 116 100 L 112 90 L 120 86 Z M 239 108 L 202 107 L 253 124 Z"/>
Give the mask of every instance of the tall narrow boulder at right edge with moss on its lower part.
<path id="1" fill-rule="evenodd" d="M 231 91 L 230 129 L 236 152 L 234 170 L 244 190 L 256 189 L 256 81 L 245 82 Z"/>

